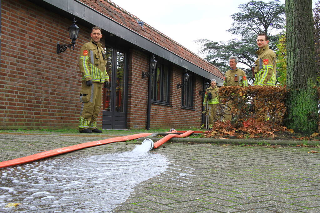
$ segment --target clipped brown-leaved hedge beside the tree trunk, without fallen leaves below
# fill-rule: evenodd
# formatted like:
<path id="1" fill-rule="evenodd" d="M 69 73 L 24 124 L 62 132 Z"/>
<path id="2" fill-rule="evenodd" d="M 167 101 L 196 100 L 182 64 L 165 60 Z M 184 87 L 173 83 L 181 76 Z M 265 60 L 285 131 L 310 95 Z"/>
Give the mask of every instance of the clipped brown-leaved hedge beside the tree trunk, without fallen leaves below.
<path id="1" fill-rule="evenodd" d="M 249 119 L 282 125 L 286 111 L 287 91 L 284 86 L 226 86 L 219 89 L 218 112 L 230 111 L 234 127 L 244 126 Z"/>

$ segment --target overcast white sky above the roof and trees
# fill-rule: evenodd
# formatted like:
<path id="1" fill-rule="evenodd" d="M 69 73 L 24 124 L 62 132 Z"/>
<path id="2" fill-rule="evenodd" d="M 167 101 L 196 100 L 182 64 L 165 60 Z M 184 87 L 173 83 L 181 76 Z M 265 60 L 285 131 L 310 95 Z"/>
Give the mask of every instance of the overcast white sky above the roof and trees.
<path id="1" fill-rule="evenodd" d="M 239 4 L 250 0 L 111 1 L 198 54 L 200 44 L 195 43 L 197 39 L 227 41 L 234 38 L 226 32 L 232 25 L 230 15 L 240 12 Z M 284 4 L 285 0 L 280 2 Z M 314 7 L 317 0 L 312 2 Z"/>

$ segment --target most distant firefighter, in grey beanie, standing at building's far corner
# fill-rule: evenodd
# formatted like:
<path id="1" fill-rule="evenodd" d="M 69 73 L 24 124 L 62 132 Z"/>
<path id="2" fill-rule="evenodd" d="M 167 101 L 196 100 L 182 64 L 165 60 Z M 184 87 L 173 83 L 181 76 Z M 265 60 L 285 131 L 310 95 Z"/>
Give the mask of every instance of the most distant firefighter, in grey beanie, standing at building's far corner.
<path id="1" fill-rule="evenodd" d="M 209 117 L 209 124 L 214 124 L 218 119 L 217 106 L 219 104 L 219 88 L 216 85 L 216 80 L 212 79 L 211 86 L 206 89 L 203 101 L 203 111 L 207 111 Z M 207 108 L 206 108 L 207 106 Z"/>

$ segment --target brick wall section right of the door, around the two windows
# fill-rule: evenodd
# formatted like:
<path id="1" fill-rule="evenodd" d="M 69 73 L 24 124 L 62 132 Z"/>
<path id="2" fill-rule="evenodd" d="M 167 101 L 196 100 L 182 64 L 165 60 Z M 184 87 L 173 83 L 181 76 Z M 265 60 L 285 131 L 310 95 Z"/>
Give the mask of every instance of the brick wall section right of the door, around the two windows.
<path id="1" fill-rule="evenodd" d="M 128 128 L 145 129 L 148 101 L 148 78 L 142 79 L 142 72 L 148 72 L 148 55 L 130 50 L 128 85 Z M 170 106 L 151 104 L 151 129 L 189 128 L 201 126 L 202 78 L 194 75 L 194 109 L 181 108 L 182 68 L 173 66 L 170 81 Z"/>

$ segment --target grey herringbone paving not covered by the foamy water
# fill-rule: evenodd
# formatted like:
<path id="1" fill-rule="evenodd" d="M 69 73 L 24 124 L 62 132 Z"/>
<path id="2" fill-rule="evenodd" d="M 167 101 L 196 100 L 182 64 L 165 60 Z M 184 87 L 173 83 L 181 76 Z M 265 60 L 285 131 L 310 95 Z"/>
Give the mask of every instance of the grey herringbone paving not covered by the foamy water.
<path id="1" fill-rule="evenodd" d="M 101 137 L 0 134 L 0 161 Z M 64 154 L 119 153 L 111 143 Z M 320 212 L 319 148 L 165 144 L 166 172 L 141 182 L 113 212 Z M 150 165 L 152 166 L 152 165 Z"/>

